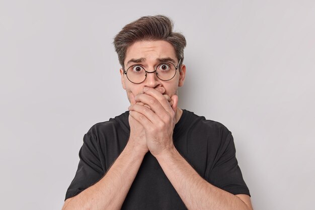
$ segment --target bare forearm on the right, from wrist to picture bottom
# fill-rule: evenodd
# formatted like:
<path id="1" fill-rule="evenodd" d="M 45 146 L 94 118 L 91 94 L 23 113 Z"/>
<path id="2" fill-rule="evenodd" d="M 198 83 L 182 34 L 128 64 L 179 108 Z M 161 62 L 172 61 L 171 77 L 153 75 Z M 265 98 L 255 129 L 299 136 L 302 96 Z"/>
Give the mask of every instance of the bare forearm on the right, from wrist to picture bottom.
<path id="1" fill-rule="evenodd" d="M 252 209 L 239 197 L 205 181 L 175 148 L 156 159 L 188 209 Z"/>

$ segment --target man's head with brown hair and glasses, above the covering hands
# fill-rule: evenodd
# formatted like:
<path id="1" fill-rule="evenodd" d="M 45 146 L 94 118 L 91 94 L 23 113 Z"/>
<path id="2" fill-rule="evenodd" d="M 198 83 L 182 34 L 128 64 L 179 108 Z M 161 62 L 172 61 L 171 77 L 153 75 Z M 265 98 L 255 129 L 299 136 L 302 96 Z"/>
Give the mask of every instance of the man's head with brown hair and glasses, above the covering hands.
<path id="1" fill-rule="evenodd" d="M 177 88 L 185 79 L 184 59 L 185 37 L 174 33 L 171 20 L 165 16 L 142 17 L 126 25 L 115 37 L 121 82 L 128 99 L 143 92 L 145 86 L 156 88 L 169 97 L 177 94 Z M 174 77 L 165 76 L 170 67 Z M 177 68 L 178 67 L 178 68 Z M 130 73 L 145 74 L 140 80 L 133 80 Z M 156 71 L 155 71 L 156 70 Z M 129 75 L 129 76 L 128 76 Z M 141 74 L 143 76 L 143 74 Z"/>

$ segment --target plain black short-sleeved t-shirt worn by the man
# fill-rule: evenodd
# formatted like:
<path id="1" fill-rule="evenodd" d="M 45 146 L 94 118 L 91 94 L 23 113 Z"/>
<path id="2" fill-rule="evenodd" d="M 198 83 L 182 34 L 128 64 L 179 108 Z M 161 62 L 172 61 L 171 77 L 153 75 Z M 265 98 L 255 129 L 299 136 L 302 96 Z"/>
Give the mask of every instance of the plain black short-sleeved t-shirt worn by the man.
<path id="1" fill-rule="evenodd" d="M 129 112 L 94 125 L 83 139 L 80 162 L 65 199 L 99 181 L 127 144 Z M 210 184 L 232 194 L 248 194 L 235 158 L 231 132 L 222 124 L 183 110 L 173 141 L 186 161 Z M 104 198 L 106 199 L 106 198 Z M 184 202 L 148 152 L 130 187 L 122 209 L 186 209 Z"/>

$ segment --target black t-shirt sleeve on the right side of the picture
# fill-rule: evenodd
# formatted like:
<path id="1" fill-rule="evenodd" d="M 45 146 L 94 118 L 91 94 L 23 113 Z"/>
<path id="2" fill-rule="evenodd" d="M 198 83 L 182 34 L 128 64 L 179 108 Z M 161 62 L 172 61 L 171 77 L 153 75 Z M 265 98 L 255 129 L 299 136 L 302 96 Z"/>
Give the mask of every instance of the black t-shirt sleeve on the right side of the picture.
<path id="1" fill-rule="evenodd" d="M 251 196 L 235 156 L 236 150 L 231 132 L 227 130 L 227 135 L 222 134 L 222 137 L 208 176 L 209 182 L 232 194 Z"/>

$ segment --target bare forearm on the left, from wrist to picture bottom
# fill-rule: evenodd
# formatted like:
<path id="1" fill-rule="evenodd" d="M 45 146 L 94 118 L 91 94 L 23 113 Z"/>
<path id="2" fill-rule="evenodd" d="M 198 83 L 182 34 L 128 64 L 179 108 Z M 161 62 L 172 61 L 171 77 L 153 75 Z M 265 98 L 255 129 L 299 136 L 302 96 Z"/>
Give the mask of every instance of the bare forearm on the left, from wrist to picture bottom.
<path id="1" fill-rule="evenodd" d="M 106 175 L 65 201 L 62 209 L 120 209 L 139 170 L 144 153 L 127 144 Z"/>

